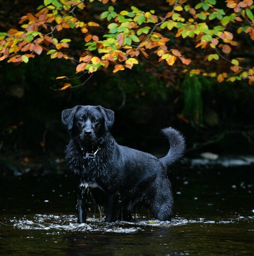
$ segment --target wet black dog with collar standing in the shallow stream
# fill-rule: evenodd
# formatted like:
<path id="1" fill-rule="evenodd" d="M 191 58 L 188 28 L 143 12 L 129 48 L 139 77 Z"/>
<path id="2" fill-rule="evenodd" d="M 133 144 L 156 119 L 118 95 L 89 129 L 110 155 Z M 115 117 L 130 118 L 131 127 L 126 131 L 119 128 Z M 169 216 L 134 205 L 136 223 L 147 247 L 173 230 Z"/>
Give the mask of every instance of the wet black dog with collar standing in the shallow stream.
<path id="1" fill-rule="evenodd" d="M 182 157 L 182 135 L 169 127 L 170 150 L 157 159 L 149 153 L 117 144 L 110 134 L 114 112 L 101 106 L 76 106 L 62 112 L 62 123 L 70 133 L 66 160 L 75 176 L 78 223 L 85 223 L 87 193 L 106 204 L 108 223 L 130 220 L 133 207 L 151 207 L 158 220 L 170 220 L 173 197 L 167 170 Z"/>

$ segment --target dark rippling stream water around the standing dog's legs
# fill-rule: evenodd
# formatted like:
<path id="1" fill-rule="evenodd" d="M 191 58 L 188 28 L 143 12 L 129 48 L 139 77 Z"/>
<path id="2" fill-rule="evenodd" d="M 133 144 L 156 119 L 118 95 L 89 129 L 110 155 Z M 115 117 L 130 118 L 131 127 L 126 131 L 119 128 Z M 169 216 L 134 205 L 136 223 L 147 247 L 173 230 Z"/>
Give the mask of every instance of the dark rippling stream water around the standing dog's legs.
<path id="1" fill-rule="evenodd" d="M 1 255 L 254 255 L 254 169 L 188 168 L 170 175 L 172 221 L 149 210 L 105 224 L 93 203 L 78 225 L 64 175 L 1 180 Z"/>

